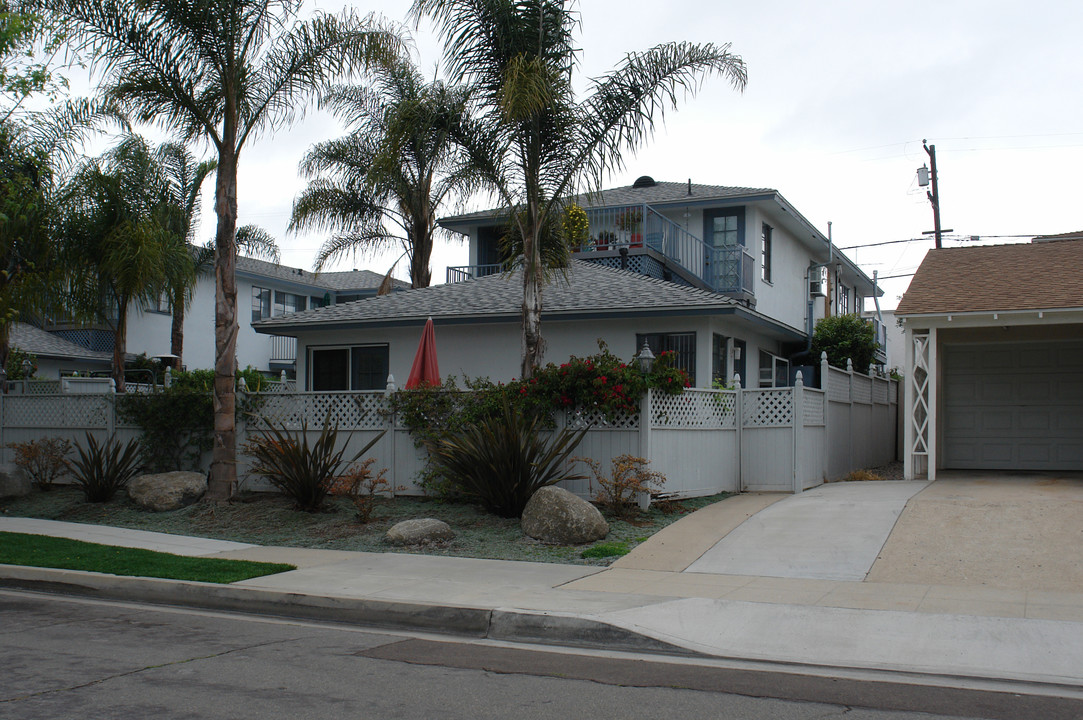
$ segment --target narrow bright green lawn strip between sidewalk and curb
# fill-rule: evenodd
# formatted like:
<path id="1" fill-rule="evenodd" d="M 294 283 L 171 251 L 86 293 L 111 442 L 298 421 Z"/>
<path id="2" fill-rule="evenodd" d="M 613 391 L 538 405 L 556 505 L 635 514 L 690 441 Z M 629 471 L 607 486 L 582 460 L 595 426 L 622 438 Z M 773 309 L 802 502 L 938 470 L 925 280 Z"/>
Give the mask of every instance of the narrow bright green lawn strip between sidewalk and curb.
<path id="1" fill-rule="evenodd" d="M 185 558 L 168 552 L 118 548 L 112 545 L 24 533 L 0 533 L 0 564 L 58 567 L 198 582 L 236 582 L 251 577 L 297 570 L 293 565 L 283 563 Z"/>

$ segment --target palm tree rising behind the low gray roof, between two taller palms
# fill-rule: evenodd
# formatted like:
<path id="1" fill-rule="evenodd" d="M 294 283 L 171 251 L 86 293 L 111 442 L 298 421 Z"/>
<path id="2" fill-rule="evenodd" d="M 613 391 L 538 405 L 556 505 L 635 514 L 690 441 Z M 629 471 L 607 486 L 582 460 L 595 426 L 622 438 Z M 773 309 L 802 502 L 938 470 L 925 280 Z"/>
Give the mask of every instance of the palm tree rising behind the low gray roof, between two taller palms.
<path id="1" fill-rule="evenodd" d="M 339 87 L 324 99 L 352 132 L 314 145 L 301 162 L 312 182 L 289 228 L 332 233 L 316 272 L 348 253 L 400 245 L 412 287 L 429 286 L 438 209 L 472 181 L 452 138 L 466 100 L 460 89 L 426 82 L 405 60 L 379 71 L 371 89 Z"/>

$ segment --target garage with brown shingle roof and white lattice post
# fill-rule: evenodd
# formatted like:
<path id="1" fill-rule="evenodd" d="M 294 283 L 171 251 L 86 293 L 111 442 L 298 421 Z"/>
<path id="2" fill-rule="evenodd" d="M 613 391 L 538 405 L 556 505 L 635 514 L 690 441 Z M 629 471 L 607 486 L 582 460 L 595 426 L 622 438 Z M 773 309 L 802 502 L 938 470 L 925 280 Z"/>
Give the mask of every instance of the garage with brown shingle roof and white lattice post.
<path id="1" fill-rule="evenodd" d="M 1083 239 L 931 250 L 896 315 L 906 477 L 1083 470 Z"/>

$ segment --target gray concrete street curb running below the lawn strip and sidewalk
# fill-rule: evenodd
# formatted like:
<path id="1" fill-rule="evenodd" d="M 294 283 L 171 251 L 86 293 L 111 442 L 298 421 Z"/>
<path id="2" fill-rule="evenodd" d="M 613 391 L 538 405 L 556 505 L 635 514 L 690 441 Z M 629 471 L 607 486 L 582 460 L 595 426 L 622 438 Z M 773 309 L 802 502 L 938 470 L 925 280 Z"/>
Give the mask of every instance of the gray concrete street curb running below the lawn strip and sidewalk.
<path id="1" fill-rule="evenodd" d="M 0 588 L 518 642 L 699 655 L 575 615 L 283 592 L 237 585 L 0 564 Z"/>

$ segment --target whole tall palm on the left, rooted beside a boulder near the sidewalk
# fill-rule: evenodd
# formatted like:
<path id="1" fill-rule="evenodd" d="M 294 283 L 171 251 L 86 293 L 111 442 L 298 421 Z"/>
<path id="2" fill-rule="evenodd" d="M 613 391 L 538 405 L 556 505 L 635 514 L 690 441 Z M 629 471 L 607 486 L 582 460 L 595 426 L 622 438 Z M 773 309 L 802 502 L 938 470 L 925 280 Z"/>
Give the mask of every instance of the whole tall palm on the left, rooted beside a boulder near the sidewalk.
<path id="1" fill-rule="evenodd" d="M 207 497 L 237 485 L 237 163 L 248 141 L 296 119 L 340 77 L 387 64 L 402 42 L 350 11 L 300 21 L 302 0 L 28 0 L 93 58 L 102 92 L 141 121 L 212 145 L 214 447 Z"/>

